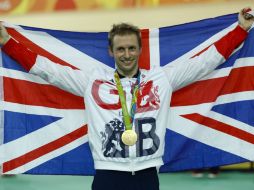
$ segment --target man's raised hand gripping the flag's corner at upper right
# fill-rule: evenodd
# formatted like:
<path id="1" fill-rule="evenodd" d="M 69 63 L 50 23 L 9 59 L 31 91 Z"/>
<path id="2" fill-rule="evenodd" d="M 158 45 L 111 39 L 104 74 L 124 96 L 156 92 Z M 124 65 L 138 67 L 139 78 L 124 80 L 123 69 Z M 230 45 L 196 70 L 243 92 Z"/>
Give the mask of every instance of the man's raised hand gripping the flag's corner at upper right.
<path id="1" fill-rule="evenodd" d="M 251 11 L 250 7 L 242 9 L 238 15 L 238 23 L 244 30 L 249 30 L 254 22 L 254 17 L 250 16 L 247 12 Z"/>

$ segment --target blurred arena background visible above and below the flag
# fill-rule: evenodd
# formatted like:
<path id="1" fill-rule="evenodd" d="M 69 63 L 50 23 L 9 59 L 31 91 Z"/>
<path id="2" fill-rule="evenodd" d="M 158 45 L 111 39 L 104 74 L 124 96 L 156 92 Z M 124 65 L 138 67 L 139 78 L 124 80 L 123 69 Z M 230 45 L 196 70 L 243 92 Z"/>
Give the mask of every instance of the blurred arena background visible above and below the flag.
<path id="1" fill-rule="evenodd" d="M 68 31 L 108 31 L 119 22 L 158 28 L 236 13 L 246 6 L 254 8 L 254 0 L 0 0 L 0 20 Z M 212 181 L 192 171 L 161 174 L 161 189 L 251 190 L 253 170 L 249 162 L 221 167 Z M 2 176 L 0 190 L 86 190 L 91 182 L 91 176 Z"/>

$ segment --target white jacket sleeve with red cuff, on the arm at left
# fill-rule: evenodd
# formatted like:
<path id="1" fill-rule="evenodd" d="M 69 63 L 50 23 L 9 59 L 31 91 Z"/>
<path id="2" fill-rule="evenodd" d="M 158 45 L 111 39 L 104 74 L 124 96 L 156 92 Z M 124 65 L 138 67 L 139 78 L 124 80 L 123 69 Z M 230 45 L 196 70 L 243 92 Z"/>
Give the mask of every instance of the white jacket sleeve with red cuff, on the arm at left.
<path id="1" fill-rule="evenodd" d="M 22 44 L 10 39 L 2 50 L 22 65 L 29 73 L 38 75 L 48 83 L 78 96 L 84 96 L 88 84 L 88 74 L 84 71 L 73 69 L 52 62 L 40 56 Z"/>

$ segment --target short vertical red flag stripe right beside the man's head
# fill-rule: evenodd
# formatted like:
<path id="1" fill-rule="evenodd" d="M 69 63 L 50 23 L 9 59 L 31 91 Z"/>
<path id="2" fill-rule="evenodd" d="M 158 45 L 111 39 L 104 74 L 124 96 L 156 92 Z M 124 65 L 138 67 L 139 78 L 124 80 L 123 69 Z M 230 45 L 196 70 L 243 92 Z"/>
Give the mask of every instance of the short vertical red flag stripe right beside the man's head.
<path id="1" fill-rule="evenodd" d="M 150 44 L 149 44 L 149 30 L 141 30 L 142 36 L 142 52 L 139 57 L 139 67 L 141 69 L 150 69 Z"/>

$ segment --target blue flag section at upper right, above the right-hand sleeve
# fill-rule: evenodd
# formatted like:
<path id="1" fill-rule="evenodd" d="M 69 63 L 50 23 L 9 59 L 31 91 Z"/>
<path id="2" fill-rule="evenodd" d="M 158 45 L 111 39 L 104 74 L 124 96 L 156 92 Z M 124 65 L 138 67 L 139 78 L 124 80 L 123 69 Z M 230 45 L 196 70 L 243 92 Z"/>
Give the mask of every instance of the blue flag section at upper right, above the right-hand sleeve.
<path id="1" fill-rule="evenodd" d="M 160 64 L 164 66 L 236 22 L 236 14 L 160 28 Z"/>

